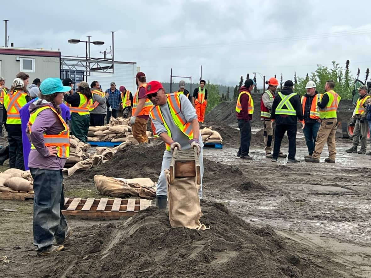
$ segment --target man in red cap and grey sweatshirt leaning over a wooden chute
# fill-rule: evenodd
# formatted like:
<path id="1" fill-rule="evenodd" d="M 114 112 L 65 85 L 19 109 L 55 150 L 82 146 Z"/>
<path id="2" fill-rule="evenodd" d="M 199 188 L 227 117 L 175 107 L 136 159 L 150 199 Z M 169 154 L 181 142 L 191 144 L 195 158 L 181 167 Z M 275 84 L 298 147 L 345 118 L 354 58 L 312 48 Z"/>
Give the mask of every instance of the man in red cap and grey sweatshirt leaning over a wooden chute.
<path id="1" fill-rule="evenodd" d="M 166 208 L 167 187 L 164 171 L 170 167 L 172 152 L 175 148 L 197 149 L 201 173 L 201 188 L 198 195 L 201 199 L 202 176 L 204 173 L 203 143 L 196 110 L 185 95 L 166 94 L 162 84 L 158 81 L 151 81 L 147 84 L 145 95 L 154 105 L 150 110 L 150 116 L 156 132 L 166 144 L 166 150 L 162 158 L 161 174 L 157 183 L 156 206 L 160 209 Z"/>

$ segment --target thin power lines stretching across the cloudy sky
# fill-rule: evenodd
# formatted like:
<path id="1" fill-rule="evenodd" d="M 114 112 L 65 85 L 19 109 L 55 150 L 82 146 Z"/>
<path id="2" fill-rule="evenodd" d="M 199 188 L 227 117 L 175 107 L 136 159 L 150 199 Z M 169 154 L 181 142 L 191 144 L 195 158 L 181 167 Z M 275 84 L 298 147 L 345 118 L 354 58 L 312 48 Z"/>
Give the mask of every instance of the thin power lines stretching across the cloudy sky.
<path id="1" fill-rule="evenodd" d="M 198 44 L 198 45 L 188 45 L 188 46 L 163 46 L 163 47 L 128 47 L 128 48 L 117 48 L 117 50 L 162 50 L 162 49 L 202 49 L 202 48 L 212 48 L 212 47 L 234 47 L 234 46 L 246 46 L 246 45 L 257 45 L 257 44 L 271 44 L 271 43 L 282 43 L 282 42 L 295 42 L 301 40 L 313 40 L 313 39 L 325 39 L 329 37 L 344 37 L 344 36 L 354 36 L 361 34 L 371 33 L 371 28 L 369 29 L 359 29 L 359 30 L 349 30 L 349 31 L 339 31 L 331 33 L 322 33 L 307 36 L 293 36 L 293 37 L 283 37 L 275 39 L 264 39 L 264 40 L 250 40 L 250 41 L 240 41 L 231 43 L 212 43 L 212 44 Z"/>

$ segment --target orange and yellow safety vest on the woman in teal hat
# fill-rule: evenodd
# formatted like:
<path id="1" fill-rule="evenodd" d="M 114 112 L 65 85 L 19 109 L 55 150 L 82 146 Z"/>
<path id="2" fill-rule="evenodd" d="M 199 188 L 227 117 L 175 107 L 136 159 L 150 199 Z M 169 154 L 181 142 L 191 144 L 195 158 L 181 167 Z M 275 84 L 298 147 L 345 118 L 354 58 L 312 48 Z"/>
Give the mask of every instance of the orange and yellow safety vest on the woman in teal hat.
<path id="1" fill-rule="evenodd" d="M 34 113 L 31 113 L 30 119 L 28 122 L 28 128 L 30 131 L 30 134 L 32 132 L 32 125 L 35 123 L 35 120 L 37 118 L 37 115 L 39 115 L 40 112 L 46 109 L 51 109 L 54 113 L 58 115 L 58 118 L 62 122 L 64 130 L 62 130 L 59 134 L 55 135 L 46 135 L 44 133 L 44 143 L 46 147 L 50 146 L 56 146 L 57 147 L 57 156 L 59 158 L 68 158 L 69 157 L 69 127 L 65 120 L 58 114 L 58 112 L 55 110 L 52 106 L 43 106 L 38 109 Z M 33 144 L 31 144 L 31 149 L 36 149 Z"/>

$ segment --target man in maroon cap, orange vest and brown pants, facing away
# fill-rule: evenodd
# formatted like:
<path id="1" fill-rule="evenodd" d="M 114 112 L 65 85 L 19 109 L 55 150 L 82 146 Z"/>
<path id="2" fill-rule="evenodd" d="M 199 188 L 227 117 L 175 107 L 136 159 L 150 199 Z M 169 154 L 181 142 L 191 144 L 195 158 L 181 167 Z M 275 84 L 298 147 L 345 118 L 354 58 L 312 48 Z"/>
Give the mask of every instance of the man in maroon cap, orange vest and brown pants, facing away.
<path id="1" fill-rule="evenodd" d="M 134 95 L 130 124 L 134 138 L 138 140 L 139 144 L 141 144 L 148 142 L 146 131 L 152 102 L 145 96 L 145 88 L 147 87 L 145 74 L 138 72 L 135 78 L 138 90 Z"/>

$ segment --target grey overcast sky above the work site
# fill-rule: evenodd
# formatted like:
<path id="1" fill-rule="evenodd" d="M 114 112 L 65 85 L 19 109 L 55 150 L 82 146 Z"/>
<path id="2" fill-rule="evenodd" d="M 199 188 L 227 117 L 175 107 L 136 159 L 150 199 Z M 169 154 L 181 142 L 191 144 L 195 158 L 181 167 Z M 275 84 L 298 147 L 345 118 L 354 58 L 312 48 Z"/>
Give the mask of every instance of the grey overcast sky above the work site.
<path id="1" fill-rule="evenodd" d="M 115 60 L 137 62 L 147 80 L 169 82 L 172 67 L 173 75 L 196 81 L 201 65 L 203 79 L 224 85 L 253 72 L 303 77 L 332 60 L 345 65 L 349 59 L 353 75 L 371 68 L 369 0 L 2 2 L 9 44 L 85 57 L 84 44 L 67 41 L 92 36 L 105 41 L 91 46 L 91 56 L 102 57 L 115 31 Z M 22 17 L 14 17 L 20 7 Z M 0 30 L 3 46 L 4 25 Z"/>

